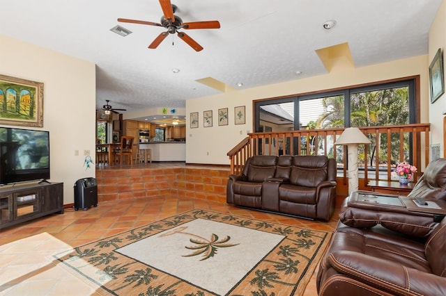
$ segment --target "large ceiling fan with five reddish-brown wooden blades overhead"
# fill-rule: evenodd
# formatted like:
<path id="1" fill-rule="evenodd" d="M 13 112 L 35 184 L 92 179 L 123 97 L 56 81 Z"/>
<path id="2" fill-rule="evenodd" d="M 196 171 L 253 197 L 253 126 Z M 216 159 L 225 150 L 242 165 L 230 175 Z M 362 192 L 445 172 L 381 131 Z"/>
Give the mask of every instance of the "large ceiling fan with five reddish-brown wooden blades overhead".
<path id="1" fill-rule="evenodd" d="M 203 47 L 198 44 L 195 40 L 186 35 L 186 33 L 180 32 L 181 28 L 185 30 L 196 29 L 196 28 L 220 28 L 220 22 L 218 21 L 203 21 L 203 22 L 189 22 L 183 23 L 183 20 L 180 17 L 174 15 L 177 7 L 174 4 L 170 3 L 170 0 L 160 0 L 160 5 L 162 9 L 162 13 L 164 14 L 161 17 L 160 23 L 154 22 L 146 22 L 139 21 L 137 19 L 118 19 L 118 22 L 132 23 L 132 24 L 146 24 L 149 26 L 163 26 L 167 28 L 166 32 L 162 32 L 158 35 L 155 40 L 148 46 L 149 49 L 155 49 L 160 45 L 162 40 L 167 37 L 169 34 L 177 33 L 178 37 L 186 42 L 190 47 L 192 47 L 195 51 L 201 51 Z"/>

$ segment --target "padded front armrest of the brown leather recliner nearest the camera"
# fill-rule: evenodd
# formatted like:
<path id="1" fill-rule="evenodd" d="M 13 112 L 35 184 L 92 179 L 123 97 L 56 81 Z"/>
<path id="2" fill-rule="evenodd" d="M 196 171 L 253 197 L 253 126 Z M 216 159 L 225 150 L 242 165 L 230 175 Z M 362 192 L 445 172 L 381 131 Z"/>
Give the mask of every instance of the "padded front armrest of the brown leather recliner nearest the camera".
<path id="1" fill-rule="evenodd" d="M 380 287 L 392 294 L 443 295 L 444 277 L 351 251 L 334 251 L 327 262 L 341 274 L 357 279 L 369 286 Z"/>

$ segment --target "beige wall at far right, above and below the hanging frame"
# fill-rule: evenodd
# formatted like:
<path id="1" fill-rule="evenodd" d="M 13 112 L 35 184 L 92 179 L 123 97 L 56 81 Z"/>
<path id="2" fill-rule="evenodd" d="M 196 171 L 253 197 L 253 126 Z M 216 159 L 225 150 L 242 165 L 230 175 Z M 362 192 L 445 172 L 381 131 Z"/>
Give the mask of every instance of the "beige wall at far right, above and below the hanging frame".
<path id="1" fill-rule="evenodd" d="M 429 31 L 429 64 L 440 48 L 443 51 L 446 46 L 446 3 L 443 1 L 438 9 L 437 15 L 433 20 L 431 30 Z M 443 54 L 443 59 L 445 58 Z M 429 67 L 428 64 L 428 67 Z M 429 88 L 429 86 L 428 86 Z M 428 95 L 430 92 L 428 90 Z M 430 98 L 429 98 L 430 101 Z M 446 112 L 446 95 L 443 94 L 433 104 L 430 104 L 429 120 L 431 122 L 431 144 L 440 144 L 441 156 L 443 156 L 443 113 Z"/>

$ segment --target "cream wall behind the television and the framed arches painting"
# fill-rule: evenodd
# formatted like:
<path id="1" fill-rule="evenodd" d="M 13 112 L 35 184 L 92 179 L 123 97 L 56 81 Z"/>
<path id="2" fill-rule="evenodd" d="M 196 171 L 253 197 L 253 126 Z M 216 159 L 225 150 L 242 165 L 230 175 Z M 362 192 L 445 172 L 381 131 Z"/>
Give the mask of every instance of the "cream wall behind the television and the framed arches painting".
<path id="1" fill-rule="evenodd" d="M 77 179 L 95 176 L 95 64 L 0 35 L 0 74 L 43 82 L 43 128 L 49 131 L 49 181 L 63 182 L 63 203 L 74 202 Z M 79 156 L 75 156 L 75 150 Z"/>

